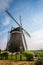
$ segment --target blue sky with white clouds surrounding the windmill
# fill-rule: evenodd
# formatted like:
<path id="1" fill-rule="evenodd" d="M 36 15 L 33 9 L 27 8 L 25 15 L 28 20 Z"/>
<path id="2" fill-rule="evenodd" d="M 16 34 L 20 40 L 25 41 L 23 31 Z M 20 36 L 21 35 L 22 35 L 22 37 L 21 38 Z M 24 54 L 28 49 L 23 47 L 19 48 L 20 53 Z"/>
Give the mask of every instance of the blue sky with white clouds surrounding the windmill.
<path id="1" fill-rule="evenodd" d="M 0 0 L 0 48 L 5 49 L 8 31 L 18 25 L 8 16 L 8 10 L 30 35 L 25 35 L 28 49 L 43 49 L 43 0 Z"/>

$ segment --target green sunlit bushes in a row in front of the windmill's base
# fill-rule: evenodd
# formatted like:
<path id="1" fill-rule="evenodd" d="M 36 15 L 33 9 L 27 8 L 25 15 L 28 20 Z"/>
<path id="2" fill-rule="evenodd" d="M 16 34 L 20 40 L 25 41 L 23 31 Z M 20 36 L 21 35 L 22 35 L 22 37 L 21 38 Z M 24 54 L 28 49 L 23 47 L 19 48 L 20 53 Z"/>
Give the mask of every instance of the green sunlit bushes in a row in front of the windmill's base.
<path id="1" fill-rule="evenodd" d="M 21 55 L 21 59 L 20 59 L 20 55 Z M 8 51 L 5 51 L 5 52 L 1 52 L 0 53 L 0 59 L 8 59 L 8 60 L 11 60 L 11 55 L 9 54 Z M 33 53 L 32 52 L 22 52 L 22 54 L 15 54 L 15 55 L 12 55 L 12 60 L 15 60 L 15 61 L 19 61 L 19 60 L 22 60 L 22 61 L 32 61 L 33 60 Z"/>

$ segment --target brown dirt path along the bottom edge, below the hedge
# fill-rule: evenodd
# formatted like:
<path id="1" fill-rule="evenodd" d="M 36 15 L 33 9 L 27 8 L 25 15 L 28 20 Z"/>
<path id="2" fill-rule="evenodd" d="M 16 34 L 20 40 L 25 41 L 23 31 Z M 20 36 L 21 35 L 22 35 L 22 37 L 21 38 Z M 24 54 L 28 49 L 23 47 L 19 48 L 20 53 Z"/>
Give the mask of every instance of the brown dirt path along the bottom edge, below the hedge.
<path id="1" fill-rule="evenodd" d="M 34 65 L 34 62 L 29 61 L 7 61 L 7 60 L 0 60 L 0 65 Z"/>

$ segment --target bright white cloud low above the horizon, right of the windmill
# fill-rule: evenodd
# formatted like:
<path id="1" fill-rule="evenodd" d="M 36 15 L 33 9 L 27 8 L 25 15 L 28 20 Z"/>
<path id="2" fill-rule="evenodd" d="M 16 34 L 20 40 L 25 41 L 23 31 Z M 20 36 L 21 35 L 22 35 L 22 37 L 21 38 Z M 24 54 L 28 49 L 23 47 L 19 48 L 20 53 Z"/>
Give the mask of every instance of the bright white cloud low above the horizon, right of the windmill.
<path id="1" fill-rule="evenodd" d="M 43 30 L 31 33 L 31 39 L 27 37 L 28 49 L 43 49 Z"/>

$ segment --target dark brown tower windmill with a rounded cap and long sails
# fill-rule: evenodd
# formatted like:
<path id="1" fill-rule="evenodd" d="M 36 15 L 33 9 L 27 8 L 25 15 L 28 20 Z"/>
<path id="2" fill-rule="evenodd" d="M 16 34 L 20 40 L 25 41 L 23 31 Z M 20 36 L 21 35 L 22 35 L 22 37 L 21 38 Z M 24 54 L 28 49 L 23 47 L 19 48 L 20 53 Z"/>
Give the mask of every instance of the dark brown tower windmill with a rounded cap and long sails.
<path id="1" fill-rule="evenodd" d="M 5 11 L 14 21 L 15 23 L 19 26 L 13 30 L 10 31 L 10 40 L 8 41 L 7 44 L 7 49 L 12 52 L 18 52 L 18 51 L 25 51 L 27 50 L 27 44 L 25 40 L 25 35 L 23 31 L 31 38 L 30 34 L 22 27 L 21 23 L 21 16 L 20 16 L 20 24 L 15 20 L 15 18 L 6 10 Z M 24 43 L 23 43 L 24 39 Z M 16 40 L 16 42 L 15 42 Z M 14 42 L 14 43 L 13 43 Z M 25 46 L 24 46 L 25 45 Z M 11 47 L 11 48 L 10 48 Z"/>

